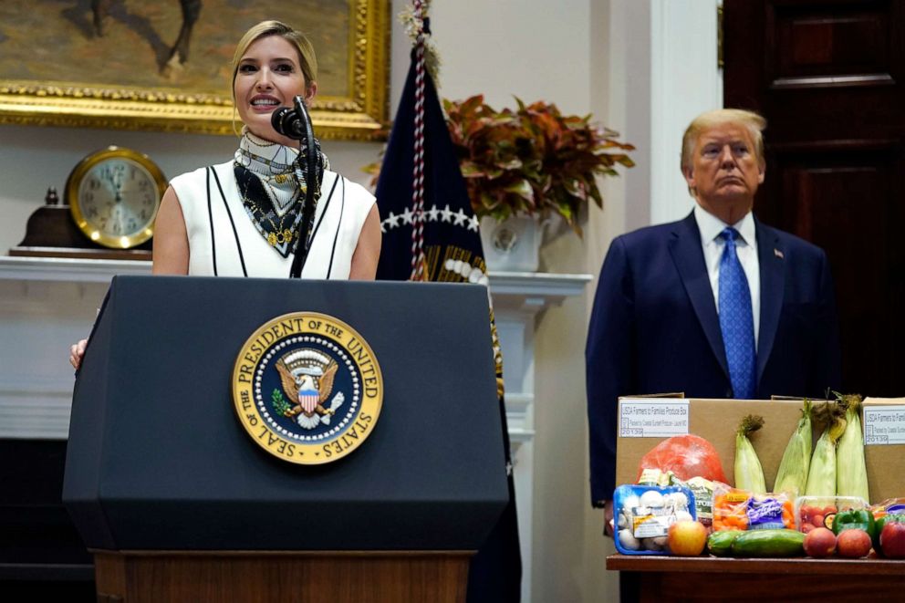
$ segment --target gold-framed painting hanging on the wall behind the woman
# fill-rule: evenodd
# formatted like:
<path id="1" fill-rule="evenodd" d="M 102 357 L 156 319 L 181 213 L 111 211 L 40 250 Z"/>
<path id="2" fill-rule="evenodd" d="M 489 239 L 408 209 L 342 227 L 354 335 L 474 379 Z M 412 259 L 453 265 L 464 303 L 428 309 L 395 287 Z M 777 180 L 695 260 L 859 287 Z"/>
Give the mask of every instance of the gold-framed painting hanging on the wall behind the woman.
<path id="1" fill-rule="evenodd" d="M 317 52 L 318 136 L 379 138 L 390 0 L 3 0 L 0 123 L 232 133 L 235 45 L 277 17 Z"/>

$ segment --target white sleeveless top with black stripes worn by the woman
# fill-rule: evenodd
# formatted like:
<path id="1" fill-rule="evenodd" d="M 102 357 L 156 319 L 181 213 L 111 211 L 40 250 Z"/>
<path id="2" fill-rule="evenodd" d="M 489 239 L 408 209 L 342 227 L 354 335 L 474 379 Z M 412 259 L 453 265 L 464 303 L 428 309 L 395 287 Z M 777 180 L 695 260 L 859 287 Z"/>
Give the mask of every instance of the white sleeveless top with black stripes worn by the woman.
<path id="1" fill-rule="evenodd" d="M 189 238 L 189 275 L 286 278 L 293 255 L 283 257 L 258 233 L 245 212 L 233 162 L 184 173 L 170 182 L 182 206 Z M 221 195 L 217 180 L 223 188 Z M 210 183 L 210 203 L 208 203 Z M 325 171 L 315 233 L 302 278 L 346 279 L 361 227 L 375 203 L 363 186 Z"/>

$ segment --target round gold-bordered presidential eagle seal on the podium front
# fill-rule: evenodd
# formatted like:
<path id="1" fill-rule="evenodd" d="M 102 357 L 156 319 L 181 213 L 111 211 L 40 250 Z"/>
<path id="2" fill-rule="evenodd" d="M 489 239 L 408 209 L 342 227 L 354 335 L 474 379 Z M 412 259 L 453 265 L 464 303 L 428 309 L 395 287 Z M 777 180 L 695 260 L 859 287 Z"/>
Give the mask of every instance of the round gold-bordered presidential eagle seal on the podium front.
<path id="1" fill-rule="evenodd" d="M 355 329 L 298 312 L 270 320 L 245 341 L 233 400 L 245 431 L 265 451 L 290 463 L 330 463 L 374 429 L 383 378 Z"/>

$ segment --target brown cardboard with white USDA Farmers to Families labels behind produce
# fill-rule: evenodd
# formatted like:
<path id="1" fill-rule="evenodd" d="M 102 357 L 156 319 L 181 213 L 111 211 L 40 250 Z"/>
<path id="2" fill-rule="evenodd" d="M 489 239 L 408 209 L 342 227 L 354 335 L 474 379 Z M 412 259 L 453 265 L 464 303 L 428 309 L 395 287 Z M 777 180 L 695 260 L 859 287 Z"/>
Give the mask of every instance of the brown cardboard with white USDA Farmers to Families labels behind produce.
<path id="1" fill-rule="evenodd" d="M 820 404 L 825 400 L 814 400 Z M 750 434 L 754 450 L 771 488 L 785 445 L 801 418 L 801 400 L 697 400 L 620 398 L 616 483 L 635 483 L 641 457 L 666 438 L 692 433 L 711 442 L 720 455 L 723 473 L 733 484 L 735 431 L 745 415 L 764 418 L 764 427 Z M 868 468 L 870 503 L 905 496 L 905 398 L 867 398 L 861 424 Z M 823 425 L 813 421 L 814 440 Z"/>

